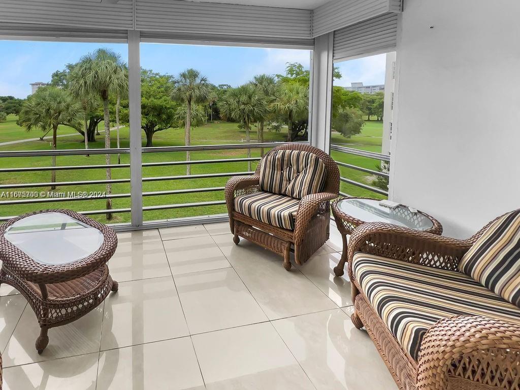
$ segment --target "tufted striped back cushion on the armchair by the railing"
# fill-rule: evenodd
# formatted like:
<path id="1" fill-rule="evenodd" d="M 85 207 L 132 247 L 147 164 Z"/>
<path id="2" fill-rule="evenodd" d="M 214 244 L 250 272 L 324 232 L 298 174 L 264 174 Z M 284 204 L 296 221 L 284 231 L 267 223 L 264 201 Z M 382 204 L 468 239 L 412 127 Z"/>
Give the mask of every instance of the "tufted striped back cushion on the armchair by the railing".
<path id="1" fill-rule="evenodd" d="M 320 192 L 324 181 L 325 165 L 314 153 L 279 150 L 262 159 L 262 191 L 301 199 Z"/>

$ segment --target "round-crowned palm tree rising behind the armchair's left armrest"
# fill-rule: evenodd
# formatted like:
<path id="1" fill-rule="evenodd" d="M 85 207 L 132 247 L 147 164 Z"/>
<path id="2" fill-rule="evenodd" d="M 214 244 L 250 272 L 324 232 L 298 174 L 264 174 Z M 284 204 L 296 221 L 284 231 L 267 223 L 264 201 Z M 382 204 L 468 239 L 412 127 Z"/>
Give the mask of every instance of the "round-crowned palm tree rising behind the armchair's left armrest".
<path id="1" fill-rule="evenodd" d="M 263 93 L 251 84 L 233 88 L 226 93 L 220 114 L 227 119 L 236 120 L 245 128 L 246 142 L 251 142 L 251 124 L 264 121 L 268 114 L 268 102 Z M 248 149 L 248 158 L 251 158 L 251 149 Z M 251 170 L 251 161 L 248 161 Z"/>

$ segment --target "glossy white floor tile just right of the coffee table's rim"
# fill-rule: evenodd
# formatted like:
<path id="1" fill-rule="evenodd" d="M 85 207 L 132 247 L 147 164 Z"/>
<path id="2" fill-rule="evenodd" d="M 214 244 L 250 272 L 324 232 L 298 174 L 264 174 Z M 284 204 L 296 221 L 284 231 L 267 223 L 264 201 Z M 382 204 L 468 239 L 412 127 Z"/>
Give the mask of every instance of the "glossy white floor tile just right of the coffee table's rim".
<path id="1" fill-rule="evenodd" d="M 172 275 L 161 240 L 119 243 L 108 267 L 118 282 Z"/>

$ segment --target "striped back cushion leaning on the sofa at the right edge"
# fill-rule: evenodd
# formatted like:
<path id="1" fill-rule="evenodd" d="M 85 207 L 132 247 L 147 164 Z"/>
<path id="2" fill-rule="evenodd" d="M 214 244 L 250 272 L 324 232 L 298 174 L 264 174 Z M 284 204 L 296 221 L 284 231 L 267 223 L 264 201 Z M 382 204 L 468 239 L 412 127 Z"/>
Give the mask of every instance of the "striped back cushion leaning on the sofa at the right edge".
<path id="1" fill-rule="evenodd" d="M 464 254 L 459 270 L 520 307 L 520 210 L 493 223 Z"/>

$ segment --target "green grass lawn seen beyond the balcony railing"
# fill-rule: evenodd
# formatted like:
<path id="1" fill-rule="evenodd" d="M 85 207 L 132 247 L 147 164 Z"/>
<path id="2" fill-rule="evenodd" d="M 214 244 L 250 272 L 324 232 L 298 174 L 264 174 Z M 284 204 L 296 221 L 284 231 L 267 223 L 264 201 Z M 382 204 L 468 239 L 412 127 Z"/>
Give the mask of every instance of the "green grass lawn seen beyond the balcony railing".
<path id="1" fill-rule="evenodd" d="M 379 126 L 379 130 L 378 130 Z M 60 133 L 68 134 L 73 133 L 74 130 L 63 127 L 59 129 Z M 345 146 L 356 147 L 357 149 L 370 150 L 374 152 L 381 151 L 381 123 L 367 123 L 363 127 L 363 131 L 360 135 L 354 136 L 350 139 L 344 138 L 341 135 L 334 134 L 332 143 L 337 144 L 350 144 Z M 8 121 L 0 123 L 0 142 L 12 141 L 16 139 L 27 139 L 36 138 L 41 136 L 41 132 L 33 131 L 27 133 L 22 128 L 16 125 L 16 117 L 9 116 Z M 378 138 L 379 135 L 379 138 Z M 144 134 L 143 134 L 144 136 Z M 265 141 L 284 141 L 287 137 L 287 131 L 282 130 L 281 132 L 270 132 L 265 131 Z M 115 130 L 111 132 L 112 143 L 111 146 L 116 146 L 115 141 Z M 144 138 L 144 137 L 143 137 Z M 251 138 L 254 141 L 256 139 L 256 129 L 251 132 Z M 197 127 L 192 130 L 191 133 L 191 144 L 202 145 L 202 144 L 229 144 L 229 143 L 240 143 L 245 140 L 245 130 L 238 129 L 236 123 L 227 122 L 214 122 L 209 123 L 205 126 Z M 378 144 L 379 142 L 379 144 Z M 128 128 L 122 128 L 120 130 L 120 143 L 121 147 L 128 147 Z M 143 141 L 144 146 L 145 141 Z M 83 149 L 83 137 L 79 133 L 75 133 L 72 136 L 58 138 L 58 149 Z M 184 129 L 168 129 L 161 132 L 155 133 L 153 137 L 153 146 L 177 146 L 184 145 Z M 90 143 L 90 147 L 101 148 L 104 147 L 103 136 L 97 137 L 97 142 Z M 0 146 L 0 151 L 13 151 L 13 150 L 49 150 L 51 146 L 48 141 L 29 141 L 23 143 L 16 143 L 10 145 Z M 253 149 L 251 154 L 253 157 L 259 157 L 259 150 Z M 349 164 L 360 165 L 363 167 L 374 169 L 375 165 L 378 164 L 376 160 L 358 157 L 352 155 L 346 155 L 344 153 L 332 153 L 333 158 L 348 162 Z M 191 152 L 192 160 L 205 160 L 205 159 L 220 159 L 220 158 L 233 158 L 233 157 L 246 157 L 246 149 L 240 150 L 229 150 L 229 151 L 200 151 Z M 160 162 L 160 161 L 182 161 L 186 159 L 185 152 L 168 152 L 168 153 L 144 153 L 142 155 L 142 162 Z M 117 156 L 111 156 L 112 164 L 117 162 Z M 121 155 L 121 163 L 129 163 L 129 155 Z M 105 155 L 91 155 L 86 156 L 58 156 L 58 166 L 74 166 L 74 165 L 98 165 L 105 164 Z M 2 158 L 0 165 L 2 168 L 14 168 L 14 167 L 43 167 L 51 166 L 51 157 L 6 157 Z M 256 163 L 253 163 L 252 169 L 256 167 Z M 192 174 L 200 173 L 218 173 L 218 172 L 241 172 L 248 169 L 247 163 L 222 163 L 222 164 L 198 164 L 191 166 Z M 359 172 L 352 169 L 341 168 L 342 176 L 350 179 L 360 181 L 363 183 L 370 184 L 371 177 L 366 173 Z M 161 177 L 161 176 L 177 176 L 184 175 L 186 168 L 184 165 L 179 166 L 162 166 L 162 167 L 143 167 L 142 176 L 146 177 Z M 56 172 L 56 181 L 79 181 L 79 180 L 102 180 L 105 179 L 104 169 L 79 169 L 79 170 L 62 170 Z M 130 177 L 129 168 L 113 168 L 112 178 L 113 179 L 128 179 Z M 223 178 L 209 178 L 209 179 L 186 179 L 186 180 L 168 180 L 168 181 L 153 181 L 143 183 L 144 192 L 152 191 L 167 191 L 167 190 L 178 190 L 178 189 L 193 189 L 200 187 L 220 187 L 224 186 L 227 177 Z M 41 183 L 50 181 L 50 171 L 43 172 L 18 172 L 18 173 L 0 173 L 1 184 L 16 184 L 16 183 Z M 352 189 L 350 187 L 353 187 Z M 89 185 L 89 186 L 60 186 L 57 187 L 56 192 L 80 192 L 80 191 L 95 191 L 104 192 L 105 185 Z M 12 197 L 5 197 L 6 190 L 0 190 L 0 200 L 13 200 Z M 11 190 L 9 190 L 11 191 Z M 50 191 L 49 187 L 32 187 L 28 189 L 14 189 L 14 191 Z M 342 183 L 342 191 L 351 195 L 365 195 L 374 196 L 373 193 L 359 189 L 358 187 L 345 185 Z M 125 194 L 130 192 L 129 183 L 116 183 L 112 185 L 113 194 Z M 223 200 L 224 192 L 206 192 L 206 193 L 189 193 L 169 196 L 145 196 L 143 198 L 144 206 L 152 205 L 165 205 L 165 204 L 180 204 L 180 203 L 193 203 L 198 201 L 210 201 L 210 200 Z M 101 210 L 105 209 L 106 200 L 80 200 L 80 201 L 60 201 L 56 203 L 39 203 L 29 205 L 12 205 L 12 206 L 0 206 L 0 216 L 15 216 L 24 212 L 32 211 L 35 209 L 45 208 L 69 208 L 73 210 Z M 113 199 L 112 207 L 114 209 L 128 208 L 130 207 L 129 198 Z M 160 211 L 145 211 L 144 218 L 146 221 L 162 220 L 168 218 L 180 218 L 190 216 L 204 216 L 216 213 L 224 213 L 226 208 L 222 206 L 205 206 L 205 207 L 194 207 L 194 208 L 180 208 L 173 210 L 160 210 Z M 104 215 L 94 216 L 95 219 L 101 222 L 107 222 Z M 118 213 L 114 214 L 111 222 L 128 222 L 130 220 L 129 213 Z"/>

